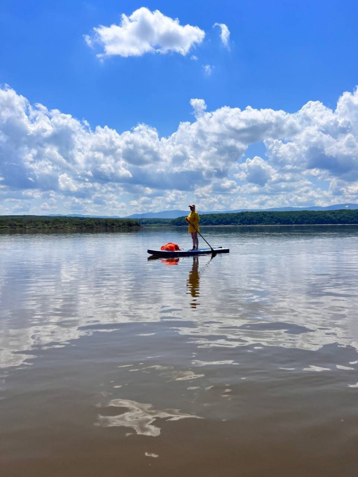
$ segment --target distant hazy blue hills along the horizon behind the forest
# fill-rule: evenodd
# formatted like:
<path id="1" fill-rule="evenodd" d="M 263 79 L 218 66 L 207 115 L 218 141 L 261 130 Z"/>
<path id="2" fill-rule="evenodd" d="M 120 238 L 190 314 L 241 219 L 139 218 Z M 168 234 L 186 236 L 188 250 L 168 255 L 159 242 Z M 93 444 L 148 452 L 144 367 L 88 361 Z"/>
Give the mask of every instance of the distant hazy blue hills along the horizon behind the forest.
<path id="1" fill-rule="evenodd" d="M 234 214 L 237 212 L 287 212 L 291 210 L 339 210 L 339 209 L 358 209 L 358 204 L 334 204 L 331 206 L 320 207 L 271 207 L 267 209 L 235 209 L 235 210 L 216 210 L 212 212 L 202 212 L 198 210 L 201 215 L 204 214 Z M 51 214 L 48 217 L 88 217 L 88 218 L 178 218 L 187 216 L 189 210 L 163 210 L 161 212 L 144 212 L 142 214 L 132 214 L 126 217 L 120 217 L 118 215 L 105 216 L 105 215 L 82 215 L 82 214 Z"/>

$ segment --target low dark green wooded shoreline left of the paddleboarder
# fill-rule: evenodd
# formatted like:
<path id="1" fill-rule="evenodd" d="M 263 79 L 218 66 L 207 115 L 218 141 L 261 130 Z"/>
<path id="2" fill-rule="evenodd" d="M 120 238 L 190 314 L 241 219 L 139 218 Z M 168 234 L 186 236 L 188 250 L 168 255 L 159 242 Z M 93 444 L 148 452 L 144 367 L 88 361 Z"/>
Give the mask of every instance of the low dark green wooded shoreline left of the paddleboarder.
<path id="1" fill-rule="evenodd" d="M 0 229 L 88 229 L 139 228 L 137 219 L 133 218 L 87 218 L 87 217 L 49 217 L 39 215 L 3 215 L 0 216 Z"/>

